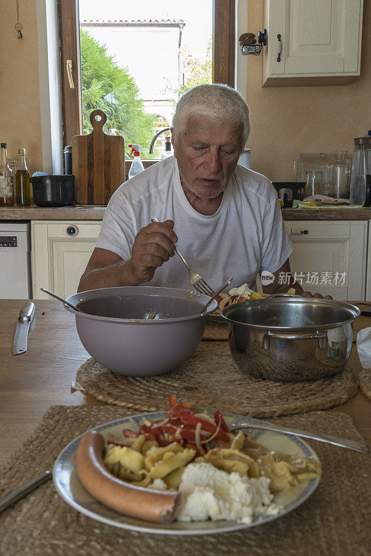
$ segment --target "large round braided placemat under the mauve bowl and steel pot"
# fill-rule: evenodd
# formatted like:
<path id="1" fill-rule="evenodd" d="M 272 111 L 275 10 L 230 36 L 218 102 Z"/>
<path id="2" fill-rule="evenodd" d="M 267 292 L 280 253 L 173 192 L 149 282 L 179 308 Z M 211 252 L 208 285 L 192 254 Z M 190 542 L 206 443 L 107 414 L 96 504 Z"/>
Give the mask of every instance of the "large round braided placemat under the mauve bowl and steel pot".
<path id="1" fill-rule="evenodd" d="M 171 373 L 158 377 L 124 377 L 94 359 L 85 361 L 76 377 L 83 391 L 107 404 L 138 411 L 167 409 L 167 398 L 190 402 L 199 409 L 270 417 L 327 409 L 356 395 L 358 379 L 351 369 L 327 379 L 273 382 L 242 373 L 223 341 L 201 342 L 197 351 Z"/>

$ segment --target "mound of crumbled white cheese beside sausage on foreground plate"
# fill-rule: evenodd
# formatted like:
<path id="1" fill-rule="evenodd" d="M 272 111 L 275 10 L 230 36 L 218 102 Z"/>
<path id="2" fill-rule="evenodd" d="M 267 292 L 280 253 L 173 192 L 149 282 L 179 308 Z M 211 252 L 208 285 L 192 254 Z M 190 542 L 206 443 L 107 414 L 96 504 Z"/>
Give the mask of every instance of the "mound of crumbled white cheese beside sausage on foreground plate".
<path id="1" fill-rule="evenodd" d="M 270 479 L 249 479 L 226 473 L 206 463 L 189 464 L 184 470 L 179 491 L 185 502 L 178 521 L 231 519 L 251 523 L 254 516 L 277 514 L 272 504 Z"/>

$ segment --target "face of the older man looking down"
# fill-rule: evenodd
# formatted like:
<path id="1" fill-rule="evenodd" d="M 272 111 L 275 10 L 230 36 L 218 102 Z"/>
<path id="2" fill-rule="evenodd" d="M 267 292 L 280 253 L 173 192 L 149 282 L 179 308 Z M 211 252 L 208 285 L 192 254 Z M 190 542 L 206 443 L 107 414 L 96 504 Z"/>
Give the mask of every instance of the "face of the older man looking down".
<path id="1" fill-rule="evenodd" d="M 215 199 L 228 185 L 243 150 L 242 126 L 230 120 L 192 116 L 174 145 L 183 188 Z"/>

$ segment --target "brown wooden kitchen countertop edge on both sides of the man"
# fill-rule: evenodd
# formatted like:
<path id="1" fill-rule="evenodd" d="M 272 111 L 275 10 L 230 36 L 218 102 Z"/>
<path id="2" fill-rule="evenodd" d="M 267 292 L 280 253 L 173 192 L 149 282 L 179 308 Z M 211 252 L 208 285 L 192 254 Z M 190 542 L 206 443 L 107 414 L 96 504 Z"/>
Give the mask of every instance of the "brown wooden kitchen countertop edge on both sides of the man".
<path id="1" fill-rule="evenodd" d="M 105 206 L 0 207 L 0 220 L 102 220 Z M 371 208 L 283 208 L 283 220 L 370 220 Z"/>

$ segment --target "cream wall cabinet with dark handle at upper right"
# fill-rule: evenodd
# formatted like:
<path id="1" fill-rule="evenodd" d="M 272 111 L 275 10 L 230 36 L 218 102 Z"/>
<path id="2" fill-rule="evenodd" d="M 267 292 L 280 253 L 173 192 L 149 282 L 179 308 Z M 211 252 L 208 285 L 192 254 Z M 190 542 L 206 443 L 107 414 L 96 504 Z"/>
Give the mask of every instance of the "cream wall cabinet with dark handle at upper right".
<path id="1" fill-rule="evenodd" d="M 360 74 L 363 0 L 265 0 L 263 86 L 345 85 Z"/>

